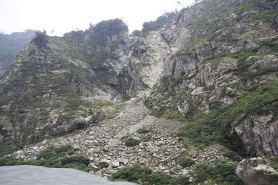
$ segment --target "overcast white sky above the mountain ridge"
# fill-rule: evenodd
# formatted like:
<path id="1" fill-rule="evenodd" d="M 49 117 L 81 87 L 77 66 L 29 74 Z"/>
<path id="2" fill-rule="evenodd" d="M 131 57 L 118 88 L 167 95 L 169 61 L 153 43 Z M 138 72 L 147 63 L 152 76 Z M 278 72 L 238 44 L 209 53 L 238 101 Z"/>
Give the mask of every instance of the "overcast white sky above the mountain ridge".
<path id="1" fill-rule="evenodd" d="M 181 5 L 177 2 L 180 2 Z M 194 0 L 0 0 L 0 31 L 6 34 L 26 29 L 47 30 L 63 36 L 85 30 L 89 24 L 120 18 L 129 31 L 141 30 L 164 12 L 180 10 Z"/>

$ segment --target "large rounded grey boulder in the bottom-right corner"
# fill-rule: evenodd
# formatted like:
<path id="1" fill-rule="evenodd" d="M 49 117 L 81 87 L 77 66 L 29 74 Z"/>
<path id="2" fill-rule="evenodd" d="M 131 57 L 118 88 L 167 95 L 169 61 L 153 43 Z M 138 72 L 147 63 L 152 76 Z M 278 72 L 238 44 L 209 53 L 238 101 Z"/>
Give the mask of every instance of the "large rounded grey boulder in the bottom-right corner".
<path id="1" fill-rule="evenodd" d="M 241 161 L 236 168 L 236 175 L 247 185 L 278 184 L 278 172 L 269 166 L 267 159 L 261 157 Z"/>

